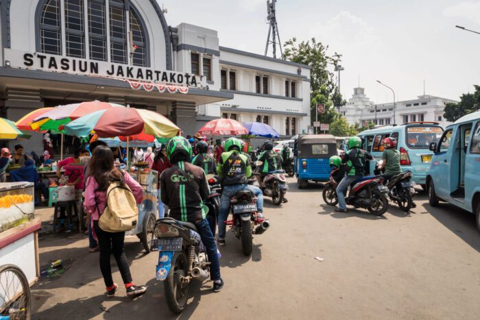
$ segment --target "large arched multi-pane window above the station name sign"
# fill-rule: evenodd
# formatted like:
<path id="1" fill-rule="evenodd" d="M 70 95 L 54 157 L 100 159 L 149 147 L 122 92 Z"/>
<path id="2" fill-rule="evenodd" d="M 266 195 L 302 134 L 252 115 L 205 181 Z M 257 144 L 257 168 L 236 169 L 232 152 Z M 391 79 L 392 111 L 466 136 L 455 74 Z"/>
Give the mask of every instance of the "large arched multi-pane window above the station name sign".
<path id="1" fill-rule="evenodd" d="M 148 65 L 145 29 L 129 0 L 45 0 L 39 36 L 43 53 Z"/>

